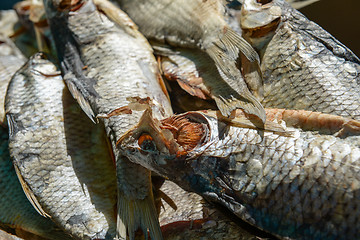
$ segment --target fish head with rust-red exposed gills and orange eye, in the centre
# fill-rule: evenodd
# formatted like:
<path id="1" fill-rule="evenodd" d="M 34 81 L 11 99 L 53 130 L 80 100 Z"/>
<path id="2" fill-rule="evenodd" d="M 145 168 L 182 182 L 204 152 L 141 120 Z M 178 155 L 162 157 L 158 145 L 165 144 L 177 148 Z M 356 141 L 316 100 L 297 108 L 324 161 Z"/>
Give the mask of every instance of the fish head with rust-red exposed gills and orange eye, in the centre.
<path id="1" fill-rule="evenodd" d="M 184 170 L 186 160 L 207 142 L 209 134 L 207 119 L 201 113 L 188 112 L 159 121 L 148 109 L 139 124 L 118 140 L 117 147 L 130 161 L 168 176 L 175 169 Z"/>

